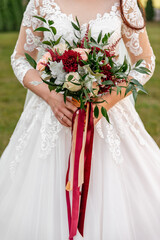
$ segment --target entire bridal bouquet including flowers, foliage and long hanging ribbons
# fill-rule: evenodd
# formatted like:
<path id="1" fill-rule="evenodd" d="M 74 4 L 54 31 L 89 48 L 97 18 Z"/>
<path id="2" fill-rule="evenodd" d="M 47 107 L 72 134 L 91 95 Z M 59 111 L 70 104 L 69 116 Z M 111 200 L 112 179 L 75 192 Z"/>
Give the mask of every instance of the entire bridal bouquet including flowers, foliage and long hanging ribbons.
<path id="1" fill-rule="evenodd" d="M 76 18 L 76 23 L 71 22 L 76 41 L 73 40 L 71 44 L 63 36 L 56 38 L 57 30 L 53 21 L 35 17 L 43 21 L 45 26 L 35 31 L 50 32 L 52 37 L 40 43 L 43 56 L 38 63 L 28 54 L 26 58 L 40 72 L 42 82 L 48 84 L 50 90 L 63 93 L 64 101 L 70 96 L 74 103 L 78 104 L 72 120 L 72 144 L 66 174 L 69 239 L 73 239 L 77 228 L 83 236 L 93 147 L 93 114 L 98 118 L 98 104 L 106 101 L 103 98 L 106 93 L 116 91 L 118 95 L 121 94 L 122 88 L 126 88 L 125 95 L 132 91 L 136 99 L 137 90 L 143 92 L 145 90 L 136 79 L 128 82 L 131 66 L 126 58 L 123 64 L 116 62 L 115 47 L 120 39 L 115 44 L 109 45 L 112 33 L 103 35 L 101 31 L 98 38 L 94 39 L 88 26 L 85 36 L 81 38 L 81 27 Z M 139 60 L 135 64 L 134 70 L 149 74 L 147 68 L 140 66 L 142 61 Z M 124 84 L 121 86 L 122 82 L 125 82 L 126 86 Z M 34 81 L 32 84 L 37 85 L 40 82 Z M 103 106 L 101 113 L 109 121 Z M 69 199 L 71 190 L 72 211 Z"/>

